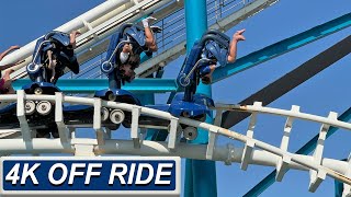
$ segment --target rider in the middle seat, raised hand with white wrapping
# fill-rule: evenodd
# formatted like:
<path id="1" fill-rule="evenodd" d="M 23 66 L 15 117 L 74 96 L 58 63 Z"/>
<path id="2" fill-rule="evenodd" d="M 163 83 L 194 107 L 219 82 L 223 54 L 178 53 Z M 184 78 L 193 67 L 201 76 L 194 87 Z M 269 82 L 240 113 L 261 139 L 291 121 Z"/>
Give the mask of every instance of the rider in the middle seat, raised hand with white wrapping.
<path id="1" fill-rule="evenodd" d="M 143 26 L 145 31 L 145 46 L 148 48 L 148 51 L 157 51 L 156 38 L 154 36 L 152 30 L 160 31 L 160 28 L 149 26 L 149 21 L 156 20 L 152 16 L 144 19 Z M 124 44 L 123 48 L 117 51 L 118 57 L 117 62 L 120 65 L 121 73 L 127 78 L 127 81 L 132 81 L 135 78 L 134 69 L 137 68 L 140 63 L 140 54 L 133 53 L 132 44 Z"/>

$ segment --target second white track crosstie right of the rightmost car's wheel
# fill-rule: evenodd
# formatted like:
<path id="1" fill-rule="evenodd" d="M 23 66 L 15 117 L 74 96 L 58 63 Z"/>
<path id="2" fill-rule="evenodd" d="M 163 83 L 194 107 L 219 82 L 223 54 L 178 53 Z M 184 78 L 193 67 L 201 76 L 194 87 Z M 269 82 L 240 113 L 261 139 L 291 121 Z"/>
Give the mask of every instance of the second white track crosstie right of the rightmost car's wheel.
<path id="1" fill-rule="evenodd" d="M 262 102 L 254 102 L 253 106 L 261 107 Z M 250 123 L 249 123 L 249 127 L 248 127 L 248 131 L 246 134 L 246 136 L 249 138 L 249 140 L 247 140 L 247 142 L 245 143 L 244 153 L 242 153 L 242 158 L 241 158 L 240 169 L 244 171 L 246 171 L 248 169 L 249 161 L 251 159 L 252 150 L 254 147 L 254 141 L 250 140 L 250 139 L 253 139 L 253 129 L 256 127 L 256 121 L 257 121 L 257 113 L 252 113 L 251 118 L 250 118 Z"/>

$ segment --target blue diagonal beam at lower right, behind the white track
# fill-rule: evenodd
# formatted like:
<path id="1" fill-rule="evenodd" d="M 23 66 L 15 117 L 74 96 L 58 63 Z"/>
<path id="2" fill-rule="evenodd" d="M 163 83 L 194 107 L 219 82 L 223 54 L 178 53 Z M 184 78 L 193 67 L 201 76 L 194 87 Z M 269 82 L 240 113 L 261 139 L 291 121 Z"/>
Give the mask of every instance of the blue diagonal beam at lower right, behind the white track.
<path id="1" fill-rule="evenodd" d="M 351 107 L 342 113 L 339 117 L 341 121 L 349 121 L 351 119 Z M 327 132 L 328 139 L 331 135 L 333 135 L 339 128 L 330 127 Z M 316 149 L 316 144 L 318 142 L 318 135 L 316 135 L 313 139 L 310 139 L 305 146 L 299 148 L 295 153 L 296 154 L 309 154 L 313 150 Z M 250 196 L 259 196 L 263 193 L 268 187 L 270 187 L 275 182 L 276 170 L 271 172 L 268 176 L 265 176 L 259 184 L 257 184 L 253 188 L 251 188 L 244 197 Z"/>

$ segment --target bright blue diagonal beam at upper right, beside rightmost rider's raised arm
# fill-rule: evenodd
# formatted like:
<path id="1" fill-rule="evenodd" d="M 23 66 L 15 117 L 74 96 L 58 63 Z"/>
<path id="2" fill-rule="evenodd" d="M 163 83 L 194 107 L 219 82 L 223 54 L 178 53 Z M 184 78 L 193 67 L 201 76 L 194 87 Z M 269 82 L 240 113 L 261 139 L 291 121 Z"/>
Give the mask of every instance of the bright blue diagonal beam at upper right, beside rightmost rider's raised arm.
<path id="1" fill-rule="evenodd" d="M 242 72 L 246 69 L 252 68 L 291 50 L 297 49 L 312 42 L 318 40 L 325 36 L 339 32 L 349 27 L 350 25 L 351 13 L 348 13 L 293 37 L 283 39 L 260 50 L 251 53 L 237 59 L 234 63 L 229 63 L 226 67 L 216 69 L 213 73 L 213 83 L 229 78 L 238 72 Z"/>

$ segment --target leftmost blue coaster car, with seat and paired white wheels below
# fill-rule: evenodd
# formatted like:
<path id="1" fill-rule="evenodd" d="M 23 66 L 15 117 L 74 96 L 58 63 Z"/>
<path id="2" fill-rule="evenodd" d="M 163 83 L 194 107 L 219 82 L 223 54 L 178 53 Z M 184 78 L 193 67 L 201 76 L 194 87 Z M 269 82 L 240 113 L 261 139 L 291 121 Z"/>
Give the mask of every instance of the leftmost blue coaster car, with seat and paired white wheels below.
<path id="1" fill-rule="evenodd" d="M 50 58 L 54 59 L 56 63 L 53 68 L 49 68 Z M 55 31 L 50 32 L 36 42 L 33 60 L 26 67 L 30 79 L 33 82 L 24 85 L 23 90 L 26 94 L 54 95 L 55 92 L 60 92 L 55 84 L 64 74 L 66 68 L 76 74 L 79 73 L 79 63 L 73 48 L 70 45 L 69 34 Z M 54 76 L 53 71 L 55 71 Z M 26 101 L 25 108 L 26 113 L 35 108 L 35 112 L 45 118 L 43 119 L 42 116 L 36 117 L 38 121 L 42 121 L 42 125 L 45 123 L 45 128 L 36 129 L 37 137 L 49 137 L 49 132 L 52 132 L 53 137 L 58 137 L 54 104 L 48 101 Z"/>

